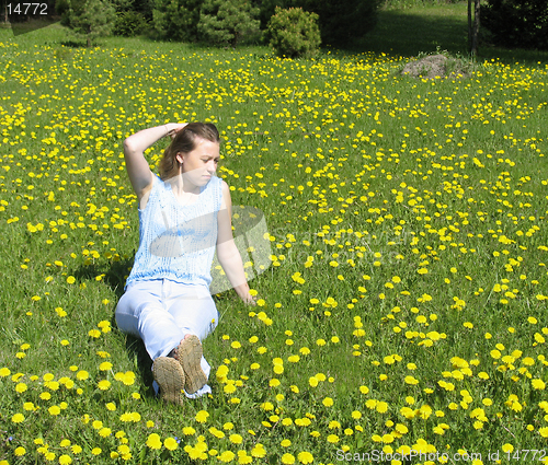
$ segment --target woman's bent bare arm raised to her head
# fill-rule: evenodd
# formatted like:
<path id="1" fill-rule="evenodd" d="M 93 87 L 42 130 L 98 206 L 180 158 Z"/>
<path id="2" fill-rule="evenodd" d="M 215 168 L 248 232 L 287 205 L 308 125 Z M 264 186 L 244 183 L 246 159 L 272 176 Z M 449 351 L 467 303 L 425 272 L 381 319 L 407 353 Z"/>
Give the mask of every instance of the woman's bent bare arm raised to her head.
<path id="1" fill-rule="evenodd" d="M 124 140 L 127 175 L 139 201 L 152 187 L 152 172 L 145 159 L 145 150 L 162 137 L 168 136 L 168 133 L 173 135 L 185 126 L 186 124 L 168 123 L 167 125 L 142 129 Z"/>

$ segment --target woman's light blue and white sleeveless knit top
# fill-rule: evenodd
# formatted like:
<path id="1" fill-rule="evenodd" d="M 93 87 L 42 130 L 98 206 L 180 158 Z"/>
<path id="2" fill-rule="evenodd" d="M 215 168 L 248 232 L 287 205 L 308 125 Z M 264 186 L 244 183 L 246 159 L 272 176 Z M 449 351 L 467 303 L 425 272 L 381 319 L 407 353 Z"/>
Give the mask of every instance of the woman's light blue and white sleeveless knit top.
<path id="1" fill-rule="evenodd" d="M 170 279 L 184 284 L 212 283 L 217 245 L 221 179 L 213 176 L 194 204 L 181 205 L 171 184 L 153 175 L 152 189 L 139 211 L 139 249 L 127 287 L 138 280 Z"/>

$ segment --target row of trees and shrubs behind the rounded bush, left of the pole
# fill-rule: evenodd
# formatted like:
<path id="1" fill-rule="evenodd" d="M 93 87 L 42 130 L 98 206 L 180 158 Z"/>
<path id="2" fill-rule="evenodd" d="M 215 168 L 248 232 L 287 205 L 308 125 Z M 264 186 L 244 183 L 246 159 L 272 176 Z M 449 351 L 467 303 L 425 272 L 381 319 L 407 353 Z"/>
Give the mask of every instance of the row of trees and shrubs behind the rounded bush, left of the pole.
<path id="1" fill-rule="evenodd" d="M 91 31 L 91 42 L 107 31 L 122 36 L 147 31 L 167 40 L 235 46 L 264 42 L 275 9 L 297 8 L 318 15 L 322 44 L 341 46 L 374 27 L 379 4 L 380 0 L 56 0 L 55 10 L 64 25 Z"/>

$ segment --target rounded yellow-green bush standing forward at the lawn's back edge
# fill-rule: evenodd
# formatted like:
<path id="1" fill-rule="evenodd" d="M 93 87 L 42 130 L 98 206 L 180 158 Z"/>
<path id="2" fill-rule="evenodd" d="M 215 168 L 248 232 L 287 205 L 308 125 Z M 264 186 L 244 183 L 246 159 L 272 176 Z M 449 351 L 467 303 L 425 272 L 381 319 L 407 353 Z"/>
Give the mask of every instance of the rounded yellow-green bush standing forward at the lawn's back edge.
<path id="1" fill-rule="evenodd" d="M 267 37 L 270 46 L 281 57 L 313 56 L 321 43 L 318 15 L 301 8 L 284 10 L 276 7 L 267 25 Z"/>

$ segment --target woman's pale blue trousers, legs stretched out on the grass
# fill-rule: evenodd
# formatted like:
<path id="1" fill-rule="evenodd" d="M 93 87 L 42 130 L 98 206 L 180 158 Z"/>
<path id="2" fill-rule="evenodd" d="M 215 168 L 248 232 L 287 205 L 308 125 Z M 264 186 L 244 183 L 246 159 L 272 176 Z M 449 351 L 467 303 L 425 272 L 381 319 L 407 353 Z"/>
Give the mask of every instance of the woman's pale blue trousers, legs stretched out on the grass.
<path id="1" fill-rule="evenodd" d="M 218 312 L 209 290 L 202 284 L 182 284 L 169 279 L 130 283 L 116 306 L 116 325 L 123 333 L 142 339 L 152 360 L 165 357 L 187 334 L 203 340 L 217 326 Z M 210 367 L 202 357 L 202 370 Z M 155 391 L 158 385 L 155 382 Z M 194 398 L 210 393 L 206 384 Z"/>

